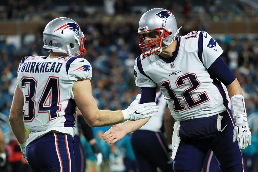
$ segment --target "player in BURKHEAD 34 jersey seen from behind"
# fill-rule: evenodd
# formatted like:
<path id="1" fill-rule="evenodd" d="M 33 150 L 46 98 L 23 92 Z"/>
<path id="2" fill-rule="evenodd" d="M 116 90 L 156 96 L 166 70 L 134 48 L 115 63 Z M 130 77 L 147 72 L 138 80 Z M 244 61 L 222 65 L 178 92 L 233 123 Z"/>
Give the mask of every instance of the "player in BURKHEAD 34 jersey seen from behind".
<path id="1" fill-rule="evenodd" d="M 116 124 L 154 115 L 156 103 L 139 104 L 141 95 L 126 110 L 99 110 L 91 93 L 90 63 L 79 25 L 66 17 L 50 21 L 43 32 L 48 57 L 21 60 L 18 84 L 9 121 L 21 152 L 35 171 L 76 171 L 73 136 L 77 107 L 92 126 Z M 81 56 L 81 57 L 80 57 Z M 27 140 L 24 122 L 30 130 Z"/>

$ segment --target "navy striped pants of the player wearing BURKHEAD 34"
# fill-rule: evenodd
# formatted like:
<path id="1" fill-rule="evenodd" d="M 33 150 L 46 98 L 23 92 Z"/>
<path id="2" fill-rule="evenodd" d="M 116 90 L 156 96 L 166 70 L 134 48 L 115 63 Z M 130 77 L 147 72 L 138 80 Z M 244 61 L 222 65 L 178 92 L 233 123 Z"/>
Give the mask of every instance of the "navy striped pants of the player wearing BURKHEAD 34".
<path id="1" fill-rule="evenodd" d="M 26 148 L 30 167 L 36 172 L 76 172 L 73 139 L 69 135 L 48 133 Z"/>

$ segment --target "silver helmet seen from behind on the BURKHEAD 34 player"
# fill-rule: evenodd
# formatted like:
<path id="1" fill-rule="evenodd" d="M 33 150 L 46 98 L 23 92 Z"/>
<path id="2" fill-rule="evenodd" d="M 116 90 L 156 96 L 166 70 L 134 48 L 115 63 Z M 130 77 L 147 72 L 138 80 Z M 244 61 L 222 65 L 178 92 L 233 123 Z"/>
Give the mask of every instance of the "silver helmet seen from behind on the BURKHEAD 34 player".
<path id="1" fill-rule="evenodd" d="M 44 51 L 63 52 L 68 56 L 84 57 L 85 36 L 76 21 L 59 17 L 50 21 L 43 31 Z"/>

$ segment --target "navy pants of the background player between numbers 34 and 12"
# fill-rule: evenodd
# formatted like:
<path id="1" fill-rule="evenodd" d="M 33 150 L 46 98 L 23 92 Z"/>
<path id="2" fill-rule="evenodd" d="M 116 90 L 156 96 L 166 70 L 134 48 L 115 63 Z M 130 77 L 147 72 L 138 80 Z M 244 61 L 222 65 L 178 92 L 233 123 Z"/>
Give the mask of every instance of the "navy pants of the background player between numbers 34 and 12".
<path id="1" fill-rule="evenodd" d="M 168 154 L 168 145 L 160 132 L 136 130 L 131 136 L 131 143 L 136 157 L 139 172 L 172 172 L 172 164 Z"/>

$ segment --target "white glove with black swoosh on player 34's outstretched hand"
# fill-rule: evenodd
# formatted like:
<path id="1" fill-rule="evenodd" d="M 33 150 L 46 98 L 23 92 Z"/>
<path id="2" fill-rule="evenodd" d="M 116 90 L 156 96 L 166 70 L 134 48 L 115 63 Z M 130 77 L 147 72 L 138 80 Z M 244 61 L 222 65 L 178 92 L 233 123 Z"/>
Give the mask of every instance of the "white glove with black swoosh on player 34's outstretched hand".
<path id="1" fill-rule="evenodd" d="M 139 120 L 154 116 L 154 112 L 159 111 L 159 106 L 156 106 L 155 102 L 139 104 L 141 94 L 138 94 L 135 100 L 131 103 L 127 109 L 122 110 L 124 120 Z"/>

